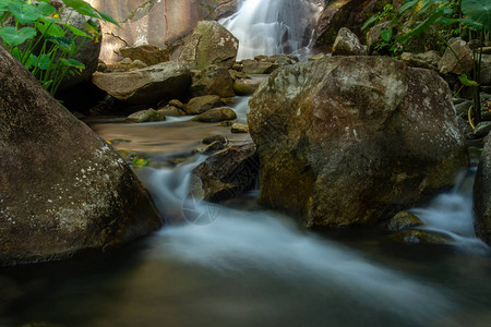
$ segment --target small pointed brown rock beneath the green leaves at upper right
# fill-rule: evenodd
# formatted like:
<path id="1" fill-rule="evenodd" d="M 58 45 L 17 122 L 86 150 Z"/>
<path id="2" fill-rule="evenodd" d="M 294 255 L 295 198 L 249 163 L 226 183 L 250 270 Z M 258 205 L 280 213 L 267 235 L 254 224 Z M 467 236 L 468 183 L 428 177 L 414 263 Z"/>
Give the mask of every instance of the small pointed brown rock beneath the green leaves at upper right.
<path id="1" fill-rule="evenodd" d="M 451 49 L 446 49 L 442 59 L 439 61 L 439 70 L 441 74 L 466 74 L 474 65 L 472 50 L 470 50 L 467 43 L 460 38 L 455 39 L 450 44 L 455 53 L 460 58 L 460 63 L 458 62 L 455 55 Z"/>

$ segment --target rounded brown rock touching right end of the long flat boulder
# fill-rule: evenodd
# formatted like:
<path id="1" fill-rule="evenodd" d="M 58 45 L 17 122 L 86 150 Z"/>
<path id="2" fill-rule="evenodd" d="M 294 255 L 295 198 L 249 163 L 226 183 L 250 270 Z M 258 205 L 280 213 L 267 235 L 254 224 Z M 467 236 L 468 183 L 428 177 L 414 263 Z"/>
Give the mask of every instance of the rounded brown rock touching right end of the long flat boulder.
<path id="1" fill-rule="evenodd" d="M 217 95 L 221 98 L 236 96 L 233 92 L 233 78 L 227 69 L 209 65 L 202 70 L 194 78 L 191 86 L 191 96 Z"/>

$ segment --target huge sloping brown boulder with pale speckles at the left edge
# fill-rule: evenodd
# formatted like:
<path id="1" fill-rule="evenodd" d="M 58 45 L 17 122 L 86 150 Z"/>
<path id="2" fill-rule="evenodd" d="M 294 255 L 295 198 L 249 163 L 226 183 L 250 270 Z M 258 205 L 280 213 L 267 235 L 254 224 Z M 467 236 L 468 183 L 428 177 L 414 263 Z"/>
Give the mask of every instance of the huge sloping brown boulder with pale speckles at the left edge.
<path id="1" fill-rule="evenodd" d="M 0 47 L 0 266 L 104 250 L 161 226 L 121 157 Z"/>

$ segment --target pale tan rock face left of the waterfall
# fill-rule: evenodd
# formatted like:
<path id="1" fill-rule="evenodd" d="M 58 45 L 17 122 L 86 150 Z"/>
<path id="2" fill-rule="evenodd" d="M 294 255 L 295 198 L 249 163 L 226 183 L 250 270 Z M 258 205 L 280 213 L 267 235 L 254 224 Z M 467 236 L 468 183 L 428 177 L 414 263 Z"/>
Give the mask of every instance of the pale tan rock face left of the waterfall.
<path id="1" fill-rule="evenodd" d="M 118 61 L 115 50 L 155 45 L 170 55 L 199 21 L 217 20 L 235 12 L 236 0 L 88 0 L 111 15 L 119 26 L 103 23 L 101 59 Z M 173 59 L 173 57 L 172 57 Z"/>

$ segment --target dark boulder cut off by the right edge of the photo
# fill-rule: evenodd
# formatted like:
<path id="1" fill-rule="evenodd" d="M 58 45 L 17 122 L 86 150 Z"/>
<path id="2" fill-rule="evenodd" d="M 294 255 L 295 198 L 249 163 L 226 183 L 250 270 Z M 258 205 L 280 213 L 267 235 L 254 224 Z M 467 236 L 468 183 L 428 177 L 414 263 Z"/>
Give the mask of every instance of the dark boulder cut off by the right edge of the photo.
<path id="1" fill-rule="evenodd" d="M 481 153 L 474 183 L 474 226 L 476 234 L 491 245 L 491 138 Z"/>

